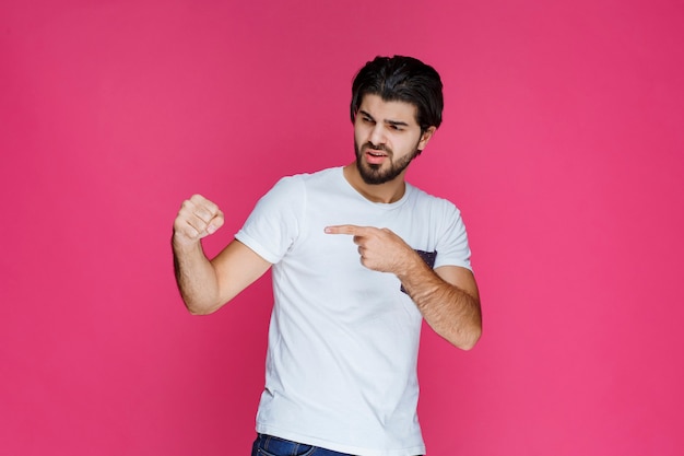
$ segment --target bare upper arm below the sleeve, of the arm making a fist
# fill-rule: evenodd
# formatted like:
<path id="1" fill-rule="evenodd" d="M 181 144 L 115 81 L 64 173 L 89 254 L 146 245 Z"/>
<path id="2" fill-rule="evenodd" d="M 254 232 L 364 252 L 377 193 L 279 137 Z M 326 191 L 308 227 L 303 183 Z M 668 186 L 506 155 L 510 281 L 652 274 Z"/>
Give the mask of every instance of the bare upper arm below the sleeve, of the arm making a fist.
<path id="1" fill-rule="evenodd" d="M 271 264 L 251 248 L 233 239 L 214 259 L 219 294 L 227 303 L 269 270 Z"/>

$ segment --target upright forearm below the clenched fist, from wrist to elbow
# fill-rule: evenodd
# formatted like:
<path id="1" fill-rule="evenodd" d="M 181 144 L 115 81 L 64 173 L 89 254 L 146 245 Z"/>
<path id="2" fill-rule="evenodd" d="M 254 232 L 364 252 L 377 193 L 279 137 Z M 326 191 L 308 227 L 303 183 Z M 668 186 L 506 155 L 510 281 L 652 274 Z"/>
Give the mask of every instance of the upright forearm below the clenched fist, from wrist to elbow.
<path id="1" fill-rule="evenodd" d="M 204 315 L 221 306 L 216 271 L 200 242 L 182 245 L 172 239 L 178 291 L 188 311 Z"/>

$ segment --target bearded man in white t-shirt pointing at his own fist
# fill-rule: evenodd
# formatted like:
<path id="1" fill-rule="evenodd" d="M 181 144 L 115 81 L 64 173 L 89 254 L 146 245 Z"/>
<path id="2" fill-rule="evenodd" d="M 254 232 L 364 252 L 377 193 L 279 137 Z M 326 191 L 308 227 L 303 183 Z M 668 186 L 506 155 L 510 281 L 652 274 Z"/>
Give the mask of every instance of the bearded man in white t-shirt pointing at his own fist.
<path id="1" fill-rule="evenodd" d="M 441 124 L 441 81 L 378 57 L 352 85 L 356 160 L 281 179 L 215 258 L 224 215 L 185 201 L 173 248 L 181 296 L 210 314 L 273 267 L 266 387 L 252 455 L 414 456 L 422 319 L 461 349 L 481 335 L 458 209 L 404 180 Z"/>

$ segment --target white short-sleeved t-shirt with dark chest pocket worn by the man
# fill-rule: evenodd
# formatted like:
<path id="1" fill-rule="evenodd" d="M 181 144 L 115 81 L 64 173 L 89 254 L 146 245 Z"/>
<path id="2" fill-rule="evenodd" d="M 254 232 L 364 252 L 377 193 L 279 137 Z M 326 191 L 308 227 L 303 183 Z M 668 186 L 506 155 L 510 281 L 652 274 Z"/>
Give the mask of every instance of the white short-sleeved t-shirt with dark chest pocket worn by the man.
<path id="1" fill-rule="evenodd" d="M 422 316 L 394 274 L 361 265 L 329 225 L 388 227 L 470 269 L 459 210 L 406 184 L 393 203 L 358 194 L 342 167 L 282 178 L 236 238 L 273 264 L 274 306 L 257 432 L 362 456 L 424 454 L 416 406 Z"/>

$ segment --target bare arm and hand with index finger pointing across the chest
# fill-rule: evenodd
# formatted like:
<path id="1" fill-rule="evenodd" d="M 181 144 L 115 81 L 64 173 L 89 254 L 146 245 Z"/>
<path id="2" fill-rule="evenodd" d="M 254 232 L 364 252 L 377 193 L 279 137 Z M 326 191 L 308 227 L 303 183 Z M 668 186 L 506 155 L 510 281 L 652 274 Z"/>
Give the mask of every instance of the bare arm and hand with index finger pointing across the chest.
<path id="1" fill-rule="evenodd" d="M 433 270 L 388 229 L 338 225 L 328 234 L 349 234 L 368 269 L 396 274 L 427 324 L 453 346 L 470 350 L 482 334 L 480 294 L 473 273 L 457 266 Z"/>

